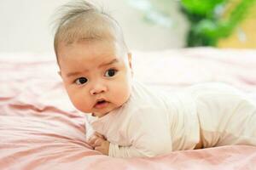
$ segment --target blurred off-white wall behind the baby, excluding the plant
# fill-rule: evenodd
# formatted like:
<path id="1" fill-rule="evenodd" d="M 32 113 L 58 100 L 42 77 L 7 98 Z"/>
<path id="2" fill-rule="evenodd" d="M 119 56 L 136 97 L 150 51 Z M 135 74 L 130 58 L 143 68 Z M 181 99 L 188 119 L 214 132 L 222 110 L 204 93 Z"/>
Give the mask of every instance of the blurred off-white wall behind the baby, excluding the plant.
<path id="1" fill-rule="evenodd" d="M 68 0 L 0 0 L 0 52 L 53 51 L 50 27 L 55 8 Z M 127 0 L 98 0 L 112 12 L 125 32 L 131 49 L 158 50 L 181 48 L 187 25 L 181 14 L 174 13 L 174 26 L 163 28 L 143 22 L 142 12 L 127 5 Z M 173 1 L 175 2 L 175 1 Z M 170 10 L 177 11 L 176 3 Z"/>

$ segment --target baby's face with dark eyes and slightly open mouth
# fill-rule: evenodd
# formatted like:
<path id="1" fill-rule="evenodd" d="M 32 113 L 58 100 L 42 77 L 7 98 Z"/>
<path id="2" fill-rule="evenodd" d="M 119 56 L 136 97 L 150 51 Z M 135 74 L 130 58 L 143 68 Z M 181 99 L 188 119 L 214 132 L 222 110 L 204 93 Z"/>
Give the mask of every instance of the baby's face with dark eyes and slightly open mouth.
<path id="1" fill-rule="evenodd" d="M 131 94 L 131 56 L 116 42 L 76 42 L 58 48 L 60 74 L 73 105 L 104 116 Z"/>

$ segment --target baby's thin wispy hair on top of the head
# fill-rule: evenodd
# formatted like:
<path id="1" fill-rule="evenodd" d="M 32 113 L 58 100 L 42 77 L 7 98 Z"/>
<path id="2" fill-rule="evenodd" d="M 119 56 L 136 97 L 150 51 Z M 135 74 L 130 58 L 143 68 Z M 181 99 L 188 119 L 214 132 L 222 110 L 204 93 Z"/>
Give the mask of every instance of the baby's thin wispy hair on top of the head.
<path id="1" fill-rule="evenodd" d="M 61 16 L 56 22 L 54 39 L 58 64 L 60 42 L 68 45 L 84 41 L 116 41 L 128 50 L 119 23 L 96 4 L 84 0 L 72 1 L 61 6 L 58 12 Z"/>

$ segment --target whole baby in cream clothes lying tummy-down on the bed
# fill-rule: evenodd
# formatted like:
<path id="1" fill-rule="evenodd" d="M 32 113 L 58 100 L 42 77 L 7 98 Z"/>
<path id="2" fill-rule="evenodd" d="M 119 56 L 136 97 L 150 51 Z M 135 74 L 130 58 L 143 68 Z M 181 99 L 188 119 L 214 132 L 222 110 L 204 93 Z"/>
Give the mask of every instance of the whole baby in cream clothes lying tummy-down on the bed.
<path id="1" fill-rule="evenodd" d="M 116 20 L 88 2 L 64 9 L 55 32 L 59 74 L 73 105 L 91 117 L 94 150 L 142 157 L 256 145 L 256 105 L 245 94 L 217 82 L 172 94 L 148 88 L 132 77 L 131 53 Z"/>

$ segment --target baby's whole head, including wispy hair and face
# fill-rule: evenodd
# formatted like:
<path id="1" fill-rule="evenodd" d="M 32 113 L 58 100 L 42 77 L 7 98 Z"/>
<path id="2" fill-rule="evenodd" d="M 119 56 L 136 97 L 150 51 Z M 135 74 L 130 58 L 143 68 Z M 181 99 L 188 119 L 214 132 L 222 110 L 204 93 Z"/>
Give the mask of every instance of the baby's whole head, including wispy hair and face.
<path id="1" fill-rule="evenodd" d="M 130 97 L 131 54 L 119 24 L 102 9 L 83 1 L 64 9 L 55 32 L 61 78 L 79 111 L 104 116 Z"/>

